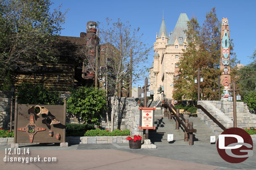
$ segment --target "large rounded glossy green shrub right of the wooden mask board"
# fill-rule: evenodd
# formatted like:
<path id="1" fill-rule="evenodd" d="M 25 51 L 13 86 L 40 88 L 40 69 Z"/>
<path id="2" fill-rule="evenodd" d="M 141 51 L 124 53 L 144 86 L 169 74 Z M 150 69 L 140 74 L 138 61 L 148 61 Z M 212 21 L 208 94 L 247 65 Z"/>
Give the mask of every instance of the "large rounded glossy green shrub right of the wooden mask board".
<path id="1" fill-rule="evenodd" d="M 67 101 L 67 112 L 70 117 L 76 116 L 79 122 L 99 125 L 106 104 L 107 97 L 104 90 L 85 86 L 71 91 Z"/>

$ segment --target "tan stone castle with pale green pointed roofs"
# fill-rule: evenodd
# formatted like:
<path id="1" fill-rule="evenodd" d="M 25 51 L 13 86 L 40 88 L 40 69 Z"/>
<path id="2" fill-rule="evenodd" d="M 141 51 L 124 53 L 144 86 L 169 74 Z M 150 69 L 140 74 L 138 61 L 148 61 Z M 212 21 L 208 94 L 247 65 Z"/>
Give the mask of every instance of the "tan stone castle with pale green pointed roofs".
<path id="1" fill-rule="evenodd" d="M 160 26 L 156 42 L 154 43 L 154 62 L 149 69 L 149 90 L 154 94 L 154 100 L 167 98 L 172 99 L 173 82 L 178 79 L 178 62 L 182 55 L 182 49 L 187 47 L 186 31 L 188 16 L 181 13 L 175 28 L 169 36 L 165 26 L 164 17 Z M 159 94 L 161 85 L 162 93 Z M 163 95 L 164 94 L 164 95 Z"/>

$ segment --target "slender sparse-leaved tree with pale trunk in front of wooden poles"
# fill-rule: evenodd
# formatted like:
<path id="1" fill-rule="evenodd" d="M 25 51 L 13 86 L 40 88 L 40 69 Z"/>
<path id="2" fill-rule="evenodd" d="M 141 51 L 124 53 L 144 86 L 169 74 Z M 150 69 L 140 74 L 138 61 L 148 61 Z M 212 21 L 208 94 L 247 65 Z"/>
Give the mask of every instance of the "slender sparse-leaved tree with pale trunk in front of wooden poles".
<path id="1" fill-rule="evenodd" d="M 101 25 L 100 42 L 110 43 L 113 48 L 105 49 L 103 60 L 105 61 L 105 71 L 101 74 L 107 82 L 107 94 L 113 96 L 111 111 L 111 125 L 109 129 L 114 129 L 115 110 L 118 106 L 118 91 L 123 91 L 124 86 L 138 81 L 148 72 L 146 60 L 151 47 L 142 41 L 143 34 L 139 32 L 140 28 L 133 29 L 129 22 L 123 23 L 120 18 L 117 22 L 106 18 L 106 25 Z M 130 64 L 132 49 L 132 64 Z M 114 50 L 114 51 L 113 51 Z M 110 63 L 108 63 L 110 61 Z M 132 75 L 131 75 L 132 71 Z M 128 90 L 127 88 L 125 90 Z M 111 94 L 111 91 L 113 92 Z M 107 113 L 107 122 L 108 113 Z"/>

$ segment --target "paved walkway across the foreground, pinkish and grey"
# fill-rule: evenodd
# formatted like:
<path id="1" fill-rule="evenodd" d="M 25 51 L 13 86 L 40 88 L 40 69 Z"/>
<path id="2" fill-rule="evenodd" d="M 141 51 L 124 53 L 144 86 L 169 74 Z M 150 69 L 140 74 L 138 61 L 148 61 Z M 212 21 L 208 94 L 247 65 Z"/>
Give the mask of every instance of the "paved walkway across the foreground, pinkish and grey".
<path id="1" fill-rule="evenodd" d="M 21 153 L 29 148 L 29 155 L 8 155 L 9 147 L 0 146 L 0 170 L 256 170 L 255 147 L 254 155 L 239 164 L 222 160 L 216 145 L 162 145 L 139 150 L 129 149 L 128 144 L 22 145 Z M 9 162 L 4 162 L 5 157 Z M 10 162 L 10 157 L 21 157 L 24 163 Z M 40 157 L 41 162 L 26 163 L 26 157 Z M 57 162 L 42 162 L 44 157 L 56 157 Z"/>

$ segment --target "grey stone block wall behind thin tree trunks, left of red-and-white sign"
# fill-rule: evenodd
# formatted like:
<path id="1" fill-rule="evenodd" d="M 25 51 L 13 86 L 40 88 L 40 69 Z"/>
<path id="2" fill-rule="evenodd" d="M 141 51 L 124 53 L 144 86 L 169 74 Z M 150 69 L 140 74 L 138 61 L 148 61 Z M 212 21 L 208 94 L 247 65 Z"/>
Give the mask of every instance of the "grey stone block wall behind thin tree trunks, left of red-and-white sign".
<path id="1" fill-rule="evenodd" d="M 113 97 L 111 97 L 111 105 Z M 111 109 L 109 111 L 111 114 Z M 110 116 L 110 115 L 109 115 Z M 140 112 L 135 98 L 119 97 L 118 107 L 115 109 L 114 129 L 129 129 L 131 135 L 143 135 L 143 130 L 139 127 Z M 109 117 L 110 119 L 110 117 Z M 106 117 L 102 118 L 101 126 L 108 128 Z"/>

